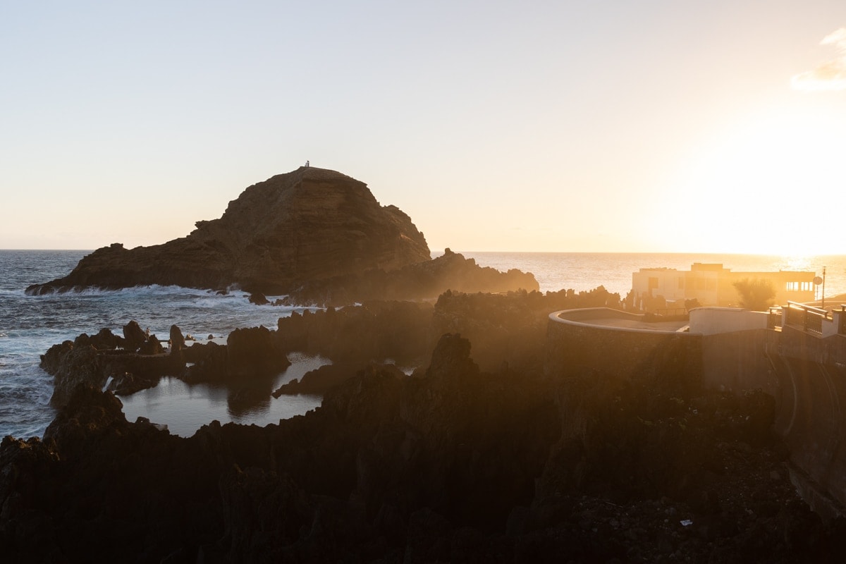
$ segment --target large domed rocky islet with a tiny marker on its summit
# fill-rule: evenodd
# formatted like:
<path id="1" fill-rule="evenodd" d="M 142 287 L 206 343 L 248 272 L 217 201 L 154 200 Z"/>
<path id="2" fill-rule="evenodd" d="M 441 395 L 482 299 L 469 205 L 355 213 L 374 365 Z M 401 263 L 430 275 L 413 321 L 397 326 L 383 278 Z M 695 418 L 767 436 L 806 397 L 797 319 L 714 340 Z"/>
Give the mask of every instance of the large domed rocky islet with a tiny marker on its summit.
<path id="1" fill-rule="evenodd" d="M 430 259 L 409 216 L 380 205 L 365 183 L 315 167 L 250 186 L 220 218 L 196 227 L 161 245 L 97 249 L 68 276 L 27 292 L 175 284 L 286 293 L 307 281 Z"/>

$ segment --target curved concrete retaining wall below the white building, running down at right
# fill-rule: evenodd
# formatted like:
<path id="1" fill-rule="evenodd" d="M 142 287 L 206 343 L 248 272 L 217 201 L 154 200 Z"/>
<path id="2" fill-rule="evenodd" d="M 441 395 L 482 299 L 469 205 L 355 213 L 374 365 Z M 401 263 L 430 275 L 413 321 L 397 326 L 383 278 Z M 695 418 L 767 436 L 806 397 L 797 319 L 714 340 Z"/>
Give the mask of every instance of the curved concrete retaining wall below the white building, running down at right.
<path id="1" fill-rule="evenodd" d="M 669 378 L 733 393 L 760 388 L 776 400 L 774 430 L 788 445 L 799 493 L 822 517 L 844 515 L 846 336 L 768 330 L 760 327 L 766 315 L 750 313 L 694 309 L 691 332 L 679 333 L 601 325 L 632 320 L 627 312 L 556 312 L 547 328 L 547 374 Z M 717 331 L 718 320 L 731 331 Z"/>

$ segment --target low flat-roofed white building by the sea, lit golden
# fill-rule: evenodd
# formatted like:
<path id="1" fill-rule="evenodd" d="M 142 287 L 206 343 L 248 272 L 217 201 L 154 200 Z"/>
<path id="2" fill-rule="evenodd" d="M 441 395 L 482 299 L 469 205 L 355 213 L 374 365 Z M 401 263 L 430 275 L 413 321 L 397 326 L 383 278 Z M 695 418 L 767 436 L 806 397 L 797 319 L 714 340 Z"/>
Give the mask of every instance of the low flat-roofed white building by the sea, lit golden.
<path id="1" fill-rule="evenodd" d="M 812 271 L 733 272 L 722 263 L 695 262 L 689 271 L 674 268 L 641 268 L 632 273 L 627 306 L 643 311 L 695 306 L 737 306 L 741 302 L 736 282 L 766 281 L 772 284 L 777 304 L 815 299 Z M 695 300 L 695 302 L 694 302 Z"/>

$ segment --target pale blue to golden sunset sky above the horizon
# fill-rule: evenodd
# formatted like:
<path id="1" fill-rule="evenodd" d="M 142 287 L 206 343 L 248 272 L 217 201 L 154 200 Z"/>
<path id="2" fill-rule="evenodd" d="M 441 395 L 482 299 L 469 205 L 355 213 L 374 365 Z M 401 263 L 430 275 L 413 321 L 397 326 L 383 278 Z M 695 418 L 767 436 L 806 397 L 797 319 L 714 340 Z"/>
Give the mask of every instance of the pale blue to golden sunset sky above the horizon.
<path id="1" fill-rule="evenodd" d="M 0 249 L 311 166 L 433 251 L 846 254 L 846 2 L 0 0 Z"/>

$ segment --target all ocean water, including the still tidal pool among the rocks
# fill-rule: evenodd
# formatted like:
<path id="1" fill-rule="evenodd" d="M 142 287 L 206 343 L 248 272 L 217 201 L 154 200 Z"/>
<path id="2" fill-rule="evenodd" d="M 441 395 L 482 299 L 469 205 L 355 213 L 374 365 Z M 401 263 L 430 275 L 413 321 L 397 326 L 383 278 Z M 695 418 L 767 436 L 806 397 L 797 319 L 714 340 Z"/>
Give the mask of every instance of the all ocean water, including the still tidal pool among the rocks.
<path id="1" fill-rule="evenodd" d="M 93 334 L 102 328 L 121 334 L 129 320 L 149 327 L 166 339 L 171 324 L 199 339 L 210 335 L 219 342 L 236 327 L 275 328 L 279 317 L 294 308 L 256 306 L 246 294 L 227 295 L 181 287 L 135 287 L 116 291 L 86 290 L 27 296 L 25 288 L 47 282 L 73 270 L 90 251 L 0 250 L 0 436 L 41 436 L 53 418 L 50 407 L 52 376 L 38 363 L 53 344 Z M 462 251 L 456 251 L 462 252 Z M 433 253 L 433 256 L 441 253 Z M 462 252 L 480 266 L 500 271 L 518 268 L 533 273 L 542 292 L 572 288 L 576 291 L 604 286 L 621 298 L 631 288 L 632 272 L 665 266 L 688 270 L 694 262 L 718 262 L 733 271 L 802 270 L 821 274 L 827 266 L 826 295 L 846 293 L 846 255 L 783 257 L 758 255 L 618 254 L 618 253 L 492 253 Z M 302 310 L 304 308 L 296 308 Z M 294 364 L 277 377 L 276 386 L 300 377 L 327 362 L 294 356 Z M 270 399 L 253 408 L 233 408 L 224 388 L 188 386 L 165 378 L 158 386 L 121 399 L 124 413 L 134 421 L 139 415 L 168 424 L 171 432 L 191 435 L 202 424 L 276 423 L 316 408 L 320 397 Z"/>

